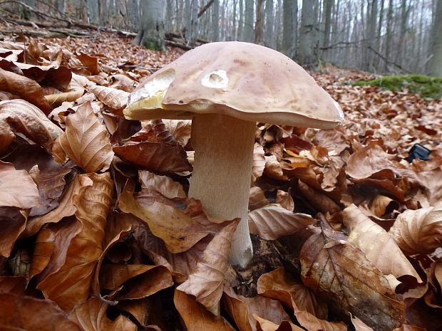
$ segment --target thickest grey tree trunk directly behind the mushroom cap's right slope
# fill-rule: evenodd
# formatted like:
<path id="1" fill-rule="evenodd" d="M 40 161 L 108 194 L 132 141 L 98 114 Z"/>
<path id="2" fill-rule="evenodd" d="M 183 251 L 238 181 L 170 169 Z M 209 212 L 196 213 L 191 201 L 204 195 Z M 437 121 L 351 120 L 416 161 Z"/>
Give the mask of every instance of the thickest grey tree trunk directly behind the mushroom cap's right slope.
<path id="1" fill-rule="evenodd" d="M 302 0 L 301 28 L 297 60 L 300 65 L 312 69 L 318 65 L 316 0 Z"/>

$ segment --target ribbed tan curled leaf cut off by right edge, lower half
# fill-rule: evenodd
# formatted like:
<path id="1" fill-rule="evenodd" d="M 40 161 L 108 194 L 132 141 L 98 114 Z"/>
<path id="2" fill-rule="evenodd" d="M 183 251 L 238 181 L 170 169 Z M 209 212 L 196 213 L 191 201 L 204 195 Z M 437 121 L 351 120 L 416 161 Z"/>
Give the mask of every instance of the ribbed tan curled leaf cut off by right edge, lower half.
<path id="1" fill-rule="evenodd" d="M 441 247 L 442 209 L 406 210 L 397 217 L 389 233 L 407 256 L 431 253 Z"/>

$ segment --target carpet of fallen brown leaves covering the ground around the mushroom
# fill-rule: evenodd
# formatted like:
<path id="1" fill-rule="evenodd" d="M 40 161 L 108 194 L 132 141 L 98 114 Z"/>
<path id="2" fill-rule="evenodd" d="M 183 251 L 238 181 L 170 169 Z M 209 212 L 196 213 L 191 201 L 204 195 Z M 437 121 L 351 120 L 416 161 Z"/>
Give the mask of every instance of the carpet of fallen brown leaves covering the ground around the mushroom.
<path id="1" fill-rule="evenodd" d="M 258 123 L 238 269 L 191 122 L 122 114 L 180 51 L 97 38 L 0 41 L 0 329 L 442 330 L 441 100 L 315 74 L 346 120 Z"/>

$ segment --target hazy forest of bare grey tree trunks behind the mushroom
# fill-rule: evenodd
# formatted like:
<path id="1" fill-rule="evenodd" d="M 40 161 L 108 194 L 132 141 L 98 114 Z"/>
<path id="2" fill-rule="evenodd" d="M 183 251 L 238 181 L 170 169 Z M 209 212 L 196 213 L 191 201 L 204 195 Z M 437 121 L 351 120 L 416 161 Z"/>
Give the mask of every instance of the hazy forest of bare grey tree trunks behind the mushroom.
<path id="1" fill-rule="evenodd" d="M 11 13 L 36 16 L 19 1 Z M 438 0 L 53 0 L 24 1 L 50 16 L 139 30 L 135 42 L 163 49 L 165 33 L 187 46 L 248 41 L 274 48 L 304 68 L 332 63 L 371 73 L 442 75 Z M 173 38 L 173 37 L 172 37 Z"/>

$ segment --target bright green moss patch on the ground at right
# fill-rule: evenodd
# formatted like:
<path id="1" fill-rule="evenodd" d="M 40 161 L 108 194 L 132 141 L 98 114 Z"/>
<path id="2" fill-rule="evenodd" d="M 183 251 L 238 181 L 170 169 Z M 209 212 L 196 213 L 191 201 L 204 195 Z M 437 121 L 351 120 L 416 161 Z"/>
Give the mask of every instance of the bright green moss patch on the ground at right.
<path id="1" fill-rule="evenodd" d="M 355 80 L 352 85 L 376 85 L 384 90 L 417 93 L 423 98 L 442 98 L 442 78 L 426 75 L 384 76 L 373 80 Z"/>

